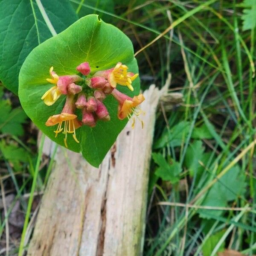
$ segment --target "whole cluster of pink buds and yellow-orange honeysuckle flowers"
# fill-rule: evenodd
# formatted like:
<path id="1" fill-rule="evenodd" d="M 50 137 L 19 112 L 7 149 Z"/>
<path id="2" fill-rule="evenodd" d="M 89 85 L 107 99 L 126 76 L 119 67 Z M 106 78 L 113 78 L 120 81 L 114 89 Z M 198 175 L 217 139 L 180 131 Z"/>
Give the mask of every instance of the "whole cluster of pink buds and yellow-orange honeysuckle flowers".
<path id="1" fill-rule="evenodd" d="M 127 86 L 131 91 L 132 81 L 138 77 L 138 74 L 128 72 L 128 67 L 118 62 L 115 67 L 98 71 L 91 74 L 88 62 L 81 63 L 76 67 L 79 75 L 58 76 L 50 68 L 50 78 L 47 81 L 54 84 L 41 97 L 48 106 L 53 105 L 61 95 L 66 96 L 66 102 L 61 113 L 49 116 L 45 125 L 55 126 L 57 129 L 55 137 L 62 132 L 64 134 L 64 144 L 67 147 L 67 134 L 72 134 L 73 139 L 79 143 L 76 137 L 76 129 L 81 125 L 95 127 L 98 120 L 110 121 L 108 109 L 104 104 L 104 99 L 110 95 L 118 102 L 117 116 L 120 120 L 128 118 L 132 119 L 132 127 L 137 117 L 143 127 L 143 121 L 139 118 L 144 112 L 139 107 L 144 101 L 143 94 L 134 96 L 133 98 L 121 93 L 116 89 L 116 85 Z M 77 111 L 81 111 L 81 120 L 78 119 Z M 135 114 L 135 117 L 132 114 Z"/>

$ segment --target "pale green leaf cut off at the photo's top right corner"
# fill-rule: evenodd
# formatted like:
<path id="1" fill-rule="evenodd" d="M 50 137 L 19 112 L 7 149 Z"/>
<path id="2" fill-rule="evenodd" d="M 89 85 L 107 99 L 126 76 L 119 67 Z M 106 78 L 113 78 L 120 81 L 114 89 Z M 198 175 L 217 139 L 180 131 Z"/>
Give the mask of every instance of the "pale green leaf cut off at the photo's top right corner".
<path id="1" fill-rule="evenodd" d="M 243 30 L 254 29 L 256 26 L 256 1 L 255 0 L 244 0 L 242 3 L 244 7 L 243 15 Z"/>

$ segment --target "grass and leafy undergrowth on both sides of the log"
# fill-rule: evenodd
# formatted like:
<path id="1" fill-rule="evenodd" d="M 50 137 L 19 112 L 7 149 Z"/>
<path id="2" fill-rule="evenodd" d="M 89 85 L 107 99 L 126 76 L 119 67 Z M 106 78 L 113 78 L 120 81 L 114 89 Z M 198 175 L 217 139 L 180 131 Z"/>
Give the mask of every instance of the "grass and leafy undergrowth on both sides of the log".
<path id="1" fill-rule="evenodd" d="M 256 253 L 256 1 L 70 3 L 79 17 L 97 13 L 119 27 L 135 52 L 161 35 L 136 55 L 143 90 L 172 74 L 169 90 L 182 94 L 157 113 L 145 256 Z M 0 253 L 15 255 L 53 161 L 37 152 L 37 130 L 3 86 L 0 131 Z"/>

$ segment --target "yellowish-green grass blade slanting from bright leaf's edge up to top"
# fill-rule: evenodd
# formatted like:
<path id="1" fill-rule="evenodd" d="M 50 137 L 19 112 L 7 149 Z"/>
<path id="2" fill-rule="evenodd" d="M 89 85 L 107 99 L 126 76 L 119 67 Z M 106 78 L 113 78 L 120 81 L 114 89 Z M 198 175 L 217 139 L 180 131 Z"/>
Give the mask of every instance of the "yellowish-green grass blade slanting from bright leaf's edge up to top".
<path id="1" fill-rule="evenodd" d="M 142 52 L 144 49 L 146 49 L 147 47 L 149 47 L 151 44 L 154 44 L 154 42 L 156 42 L 158 39 L 160 39 L 162 36 L 164 36 L 166 33 L 168 33 L 171 29 L 175 28 L 175 26 L 177 26 L 178 24 L 180 24 L 183 20 L 186 20 L 186 18 L 194 15 L 195 13 L 201 11 L 202 9 L 204 9 L 204 7 L 209 6 L 210 4 L 216 2 L 217 0 L 210 0 L 207 1 L 204 4 L 201 4 L 200 6 L 196 7 L 195 9 L 192 9 L 191 11 L 187 12 L 185 15 L 183 15 L 182 17 L 178 18 L 177 20 L 175 20 L 164 32 L 162 32 L 160 35 L 158 35 L 154 40 L 152 40 L 150 43 L 146 44 L 143 48 L 141 48 L 140 50 L 138 50 L 134 56 L 136 56 L 137 54 L 139 54 L 140 52 Z"/>

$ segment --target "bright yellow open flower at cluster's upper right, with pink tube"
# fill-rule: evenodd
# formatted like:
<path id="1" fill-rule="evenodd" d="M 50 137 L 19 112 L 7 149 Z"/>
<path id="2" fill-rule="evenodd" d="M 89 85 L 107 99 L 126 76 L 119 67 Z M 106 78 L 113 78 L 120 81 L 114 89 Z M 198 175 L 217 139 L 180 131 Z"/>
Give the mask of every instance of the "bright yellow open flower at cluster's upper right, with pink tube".
<path id="1" fill-rule="evenodd" d="M 139 74 L 134 74 L 132 72 L 127 72 L 128 67 L 123 65 L 121 62 L 116 64 L 116 67 L 113 67 L 108 70 L 98 71 L 94 76 L 102 76 L 105 79 L 108 79 L 111 87 L 116 88 L 116 84 L 127 86 L 131 91 L 134 90 L 131 83 L 136 79 Z"/>

